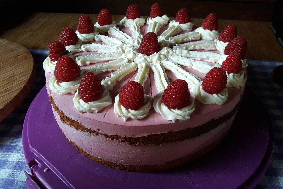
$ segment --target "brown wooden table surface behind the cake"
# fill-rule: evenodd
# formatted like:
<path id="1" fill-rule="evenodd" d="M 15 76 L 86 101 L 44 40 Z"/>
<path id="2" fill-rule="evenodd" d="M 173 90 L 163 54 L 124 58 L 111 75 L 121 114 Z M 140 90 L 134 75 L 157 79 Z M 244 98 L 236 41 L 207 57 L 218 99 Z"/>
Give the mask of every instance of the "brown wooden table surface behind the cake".
<path id="1" fill-rule="evenodd" d="M 3 32 L 0 38 L 22 44 L 28 49 L 47 49 L 50 42 L 59 40 L 60 32 L 65 27 L 76 30 L 82 14 L 69 13 L 34 13 L 20 25 Z M 93 23 L 98 14 L 89 14 Z M 119 22 L 123 15 L 112 15 Z M 146 18 L 146 17 L 144 17 Z M 175 18 L 171 18 L 173 20 Z M 199 27 L 203 18 L 192 18 Z M 254 60 L 283 61 L 283 48 L 270 29 L 271 22 L 218 20 L 218 31 L 227 24 L 236 24 L 238 35 L 243 35 L 248 42 L 246 58 Z"/>

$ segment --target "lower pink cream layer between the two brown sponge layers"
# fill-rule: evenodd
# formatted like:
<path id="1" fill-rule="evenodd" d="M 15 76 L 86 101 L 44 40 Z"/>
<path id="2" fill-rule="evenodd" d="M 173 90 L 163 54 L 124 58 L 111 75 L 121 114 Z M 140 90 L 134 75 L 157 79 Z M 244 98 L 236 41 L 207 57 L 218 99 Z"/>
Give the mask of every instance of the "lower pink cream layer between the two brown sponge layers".
<path id="1" fill-rule="evenodd" d="M 198 137 L 183 141 L 162 143 L 160 145 L 130 145 L 121 141 L 107 139 L 102 135 L 76 130 L 60 121 L 60 117 L 53 109 L 59 127 L 65 136 L 73 141 L 78 147 L 95 157 L 107 161 L 127 164 L 127 165 L 156 165 L 170 162 L 174 159 L 192 154 L 228 131 L 233 123 L 233 115 L 227 122 L 222 123 L 217 128 L 204 133 Z M 168 153 L 170 151 L 170 153 Z"/>

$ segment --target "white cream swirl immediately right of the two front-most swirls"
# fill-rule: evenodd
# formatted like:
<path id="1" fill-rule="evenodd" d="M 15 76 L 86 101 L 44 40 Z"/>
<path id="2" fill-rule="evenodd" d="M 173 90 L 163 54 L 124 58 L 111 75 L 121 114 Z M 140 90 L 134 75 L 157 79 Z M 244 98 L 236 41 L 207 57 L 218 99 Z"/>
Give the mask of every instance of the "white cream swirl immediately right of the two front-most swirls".
<path id="1" fill-rule="evenodd" d="M 203 87 L 201 86 L 202 82 L 199 82 L 195 84 L 191 88 L 191 92 L 195 95 L 195 99 L 200 101 L 203 104 L 218 104 L 222 105 L 224 102 L 226 102 L 228 97 L 228 89 L 223 89 L 218 94 L 209 94 L 203 90 Z"/>

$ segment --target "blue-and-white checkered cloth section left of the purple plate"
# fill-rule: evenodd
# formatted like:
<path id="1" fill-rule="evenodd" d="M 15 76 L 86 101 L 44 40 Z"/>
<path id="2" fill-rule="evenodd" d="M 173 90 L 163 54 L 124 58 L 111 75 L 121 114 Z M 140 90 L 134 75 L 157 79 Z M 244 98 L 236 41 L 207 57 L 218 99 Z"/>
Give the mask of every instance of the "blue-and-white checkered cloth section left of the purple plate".
<path id="1" fill-rule="evenodd" d="M 19 107 L 0 122 L 0 189 L 27 188 L 27 177 L 24 172 L 31 174 L 24 157 L 22 130 L 29 105 L 45 85 L 45 72 L 42 63 L 48 56 L 48 51 L 30 51 L 37 71 L 34 86 Z"/>

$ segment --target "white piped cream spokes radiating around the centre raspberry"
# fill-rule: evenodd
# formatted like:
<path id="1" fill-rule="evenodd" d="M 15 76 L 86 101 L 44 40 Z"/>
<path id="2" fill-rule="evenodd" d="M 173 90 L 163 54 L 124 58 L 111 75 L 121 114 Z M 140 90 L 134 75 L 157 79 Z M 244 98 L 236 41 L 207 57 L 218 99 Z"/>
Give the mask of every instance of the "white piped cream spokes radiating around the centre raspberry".
<path id="1" fill-rule="evenodd" d="M 160 29 L 160 25 L 155 22 L 152 23 L 156 27 L 154 32 L 157 33 Z M 143 35 L 141 33 L 141 27 L 137 22 L 133 22 L 128 27 L 129 30 L 132 31 L 132 36 L 121 31 L 119 27 L 116 26 L 109 28 L 108 34 L 110 36 L 96 34 L 95 41 L 103 43 L 86 43 L 81 45 L 81 50 L 96 53 L 76 55 L 75 61 L 80 66 L 96 64 L 103 61 L 107 62 L 82 69 L 80 78 L 70 83 L 72 84 L 71 87 L 64 90 L 63 93 L 66 94 L 70 92 L 73 94 L 78 89 L 82 75 L 87 72 L 93 72 L 94 74 L 100 74 L 106 71 L 112 72 L 110 76 L 101 80 L 101 84 L 106 89 L 113 90 L 113 87 L 118 81 L 131 72 L 136 71 L 136 69 L 134 81 L 142 85 L 144 85 L 148 79 L 149 70 L 153 72 L 154 84 L 158 92 L 162 92 L 170 84 L 166 70 L 170 70 L 176 78 L 185 80 L 191 89 L 199 86 L 202 82 L 201 79 L 193 74 L 195 72 L 190 73 L 190 70 L 193 69 L 199 73 L 207 74 L 210 69 L 221 67 L 222 62 L 228 55 L 225 55 L 223 52 L 208 52 L 208 50 L 216 50 L 217 40 L 200 40 L 201 34 L 199 32 L 192 31 L 178 35 L 180 31 L 191 30 L 192 26 L 193 22 L 182 25 L 175 22 L 175 20 L 171 21 L 168 29 L 158 36 L 159 45 L 161 45 L 160 51 L 150 56 L 139 52 L 139 45 Z M 152 27 L 152 24 L 150 27 Z M 149 31 L 152 30 L 152 28 L 149 28 Z M 243 67 L 246 67 L 246 61 L 242 60 L 242 62 Z M 47 67 L 46 71 L 54 71 L 55 64 L 56 63 L 46 60 L 44 63 L 45 67 Z M 51 67 L 49 68 L 48 65 Z M 189 71 L 186 71 L 182 66 L 189 68 Z M 241 74 L 241 76 L 240 74 L 238 75 L 231 76 L 231 78 L 233 77 L 233 80 L 231 79 L 230 82 L 231 86 L 237 87 L 234 83 L 242 79 L 241 76 L 243 74 Z M 67 84 L 58 84 L 55 80 L 56 79 L 52 77 L 50 84 L 55 84 L 57 88 L 68 86 L 68 82 L 66 82 Z M 244 82 L 244 79 L 242 79 L 242 81 Z M 53 87 L 50 86 L 50 88 L 52 89 Z M 57 89 L 53 91 L 58 93 Z M 61 93 L 61 95 L 63 95 L 63 93 Z"/>

